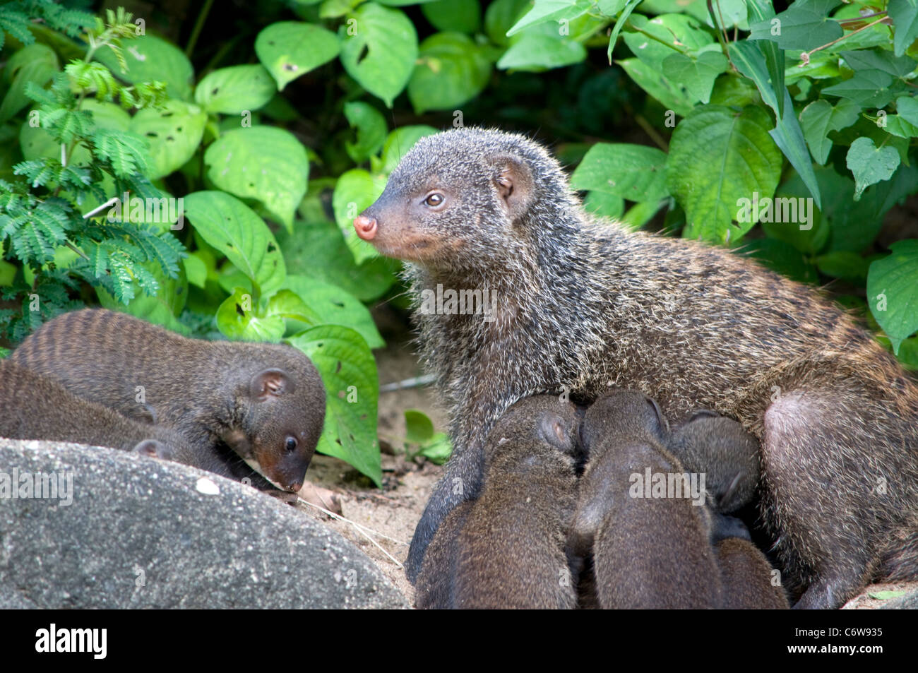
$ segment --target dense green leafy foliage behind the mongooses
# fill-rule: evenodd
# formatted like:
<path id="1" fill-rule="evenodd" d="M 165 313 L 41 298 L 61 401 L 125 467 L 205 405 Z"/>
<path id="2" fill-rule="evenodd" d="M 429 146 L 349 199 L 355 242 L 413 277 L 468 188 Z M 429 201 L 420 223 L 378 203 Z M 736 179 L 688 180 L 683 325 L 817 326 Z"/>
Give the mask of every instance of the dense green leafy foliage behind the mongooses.
<path id="1" fill-rule="evenodd" d="M 17 0 L 0 29 L 0 346 L 84 304 L 286 340 L 329 391 L 319 450 L 378 484 L 368 308 L 404 288 L 351 222 L 415 140 L 484 125 L 600 216 L 827 286 L 918 366 L 914 0 Z M 124 194 L 184 219 L 84 218 Z M 744 221 L 772 196 L 812 226 Z"/>

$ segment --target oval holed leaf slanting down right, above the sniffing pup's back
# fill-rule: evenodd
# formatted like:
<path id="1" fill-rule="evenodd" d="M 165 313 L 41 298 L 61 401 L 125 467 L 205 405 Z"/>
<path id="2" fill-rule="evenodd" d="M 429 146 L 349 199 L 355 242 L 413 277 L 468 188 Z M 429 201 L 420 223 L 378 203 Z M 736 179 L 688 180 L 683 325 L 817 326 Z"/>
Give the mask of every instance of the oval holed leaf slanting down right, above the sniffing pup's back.
<path id="1" fill-rule="evenodd" d="M 284 258 L 271 230 L 252 208 L 224 192 L 195 192 L 185 196 L 185 217 L 263 296 L 280 289 L 286 275 Z"/>

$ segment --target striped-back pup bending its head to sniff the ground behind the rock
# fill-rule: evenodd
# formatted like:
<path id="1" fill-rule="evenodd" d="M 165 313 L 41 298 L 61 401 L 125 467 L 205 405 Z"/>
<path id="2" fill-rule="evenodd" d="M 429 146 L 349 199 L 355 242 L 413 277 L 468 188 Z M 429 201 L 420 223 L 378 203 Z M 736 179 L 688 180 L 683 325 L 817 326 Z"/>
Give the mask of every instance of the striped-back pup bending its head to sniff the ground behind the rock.
<path id="1" fill-rule="evenodd" d="M 289 491 L 302 487 L 325 419 L 319 373 L 294 348 L 187 339 L 103 309 L 50 320 L 10 358 L 75 395 L 173 428 L 202 453 L 225 443 L 253 455 Z"/>

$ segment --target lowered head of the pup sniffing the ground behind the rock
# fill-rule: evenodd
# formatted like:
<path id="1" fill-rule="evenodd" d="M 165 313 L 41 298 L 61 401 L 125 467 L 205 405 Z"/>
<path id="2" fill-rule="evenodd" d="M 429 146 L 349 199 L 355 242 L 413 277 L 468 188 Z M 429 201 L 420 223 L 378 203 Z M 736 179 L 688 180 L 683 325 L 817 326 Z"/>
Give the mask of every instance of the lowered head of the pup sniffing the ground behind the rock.
<path id="1" fill-rule="evenodd" d="M 315 366 L 284 347 L 277 364 L 257 371 L 240 392 L 240 426 L 224 439 L 252 454 L 262 473 L 281 488 L 298 491 L 316 452 L 325 421 L 325 387 Z"/>

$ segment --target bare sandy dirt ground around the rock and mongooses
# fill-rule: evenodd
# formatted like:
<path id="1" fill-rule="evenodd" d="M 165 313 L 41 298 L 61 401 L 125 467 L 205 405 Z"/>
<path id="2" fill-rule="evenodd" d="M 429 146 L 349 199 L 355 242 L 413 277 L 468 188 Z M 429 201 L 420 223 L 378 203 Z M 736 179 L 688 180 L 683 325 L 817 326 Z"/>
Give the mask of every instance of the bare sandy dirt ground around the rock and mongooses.
<path id="1" fill-rule="evenodd" d="M 380 385 L 421 375 L 417 360 L 404 344 L 390 345 L 386 350 L 378 352 L 376 363 Z M 396 450 L 396 454 L 383 453 L 382 489 L 363 485 L 365 477 L 358 475 L 351 465 L 328 455 L 316 454 L 309 467 L 308 479 L 317 487 L 328 488 L 338 494 L 342 516 L 369 529 L 367 535 L 372 536 L 379 546 L 366 535 L 358 533 L 351 523 L 331 519 L 308 505 L 297 505 L 310 516 L 339 531 L 370 556 L 386 577 L 405 594 L 409 604 L 414 603 L 414 589 L 405 578 L 401 564 L 408 555 L 411 535 L 431 489 L 442 475 L 442 467 L 426 461 L 416 465 L 405 460 L 404 452 L 400 452 L 405 437 L 404 411 L 420 409 L 431 417 L 438 432 L 445 431 L 446 415 L 437 407 L 435 399 L 431 387 L 406 388 L 380 395 L 379 438 L 382 443 L 388 443 Z M 397 561 L 393 561 L 386 553 Z M 918 582 L 871 585 L 860 596 L 849 600 L 845 610 L 879 608 L 889 598 L 888 594 L 881 592 L 899 592 L 902 589 L 918 590 Z"/>

